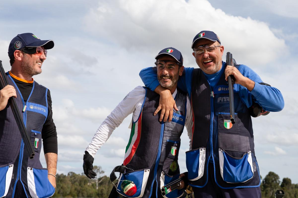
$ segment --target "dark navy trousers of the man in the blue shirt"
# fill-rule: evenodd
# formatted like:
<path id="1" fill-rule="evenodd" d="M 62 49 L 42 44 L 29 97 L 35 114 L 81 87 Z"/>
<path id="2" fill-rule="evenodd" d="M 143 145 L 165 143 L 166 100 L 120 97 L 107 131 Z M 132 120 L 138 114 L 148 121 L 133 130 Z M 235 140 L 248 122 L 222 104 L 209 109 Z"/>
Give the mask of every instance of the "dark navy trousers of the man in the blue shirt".
<path id="1" fill-rule="evenodd" d="M 222 189 L 214 179 L 213 164 L 208 166 L 208 182 L 203 188 L 193 187 L 195 198 L 261 198 L 260 187 Z"/>

